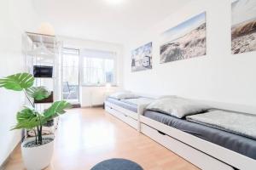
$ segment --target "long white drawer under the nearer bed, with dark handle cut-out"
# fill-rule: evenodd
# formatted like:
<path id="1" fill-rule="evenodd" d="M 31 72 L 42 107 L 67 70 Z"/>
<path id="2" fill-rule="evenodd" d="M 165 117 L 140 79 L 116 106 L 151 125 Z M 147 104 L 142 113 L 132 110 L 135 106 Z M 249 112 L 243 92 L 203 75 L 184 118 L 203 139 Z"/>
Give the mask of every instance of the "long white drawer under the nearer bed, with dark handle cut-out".
<path id="1" fill-rule="evenodd" d="M 167 149 L 172 150 L 177 155 L 182 156 L 184 159 L 195 164 L 195 166 L 200 167 L 201 169 L 233 170 L 233 167 L 230 167 L 224 162 L 218 161 L 212 156 L 208 156 L 200 150 L 196 150 L 187 144 L 183 144 L 177 139 L 173 139 L 165 133 L 161 133 L 153 127 L 149 127 L 143 123 L 141 123 L 141 132 L 151 139 L 154 139 L 154 141 L 158 142 L 159 144 L 165 146 Z"/>

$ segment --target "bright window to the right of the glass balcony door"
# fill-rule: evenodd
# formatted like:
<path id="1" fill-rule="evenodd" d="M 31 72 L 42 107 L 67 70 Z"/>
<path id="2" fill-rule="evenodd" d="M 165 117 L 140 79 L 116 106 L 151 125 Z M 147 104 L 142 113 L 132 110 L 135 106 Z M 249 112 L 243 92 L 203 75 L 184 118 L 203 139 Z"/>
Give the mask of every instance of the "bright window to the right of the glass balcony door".
<path id="1" fill-rule="evenodd" d="M 115 85 L 115 54 L 84 50 L 82 56 L 82 82 L 85 86 Z"/>

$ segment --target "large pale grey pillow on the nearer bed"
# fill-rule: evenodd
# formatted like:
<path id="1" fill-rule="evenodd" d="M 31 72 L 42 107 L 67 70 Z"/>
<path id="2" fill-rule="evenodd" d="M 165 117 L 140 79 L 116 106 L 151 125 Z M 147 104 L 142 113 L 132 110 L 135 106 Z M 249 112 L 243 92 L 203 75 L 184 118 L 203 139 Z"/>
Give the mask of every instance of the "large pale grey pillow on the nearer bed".
<path id="1" fill-rule="evenodd" d="M 211 107 L 207 105 L 201 105 L 191 99 L 183 98 L 156 99 L 146 108 L 149 111 L 159 111 L 167 115 L 176 116 L 177 118 L 195 115 L 209 109 Z"/>

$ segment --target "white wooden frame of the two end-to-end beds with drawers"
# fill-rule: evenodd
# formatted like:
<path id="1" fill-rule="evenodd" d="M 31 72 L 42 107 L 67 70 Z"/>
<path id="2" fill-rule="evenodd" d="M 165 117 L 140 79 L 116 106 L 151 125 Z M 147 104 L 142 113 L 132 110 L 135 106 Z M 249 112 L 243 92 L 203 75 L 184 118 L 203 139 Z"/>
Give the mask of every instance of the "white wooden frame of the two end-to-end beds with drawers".
<path id="1" fill-rule="evenodd" d="M 207 102 L 207 104 L 209 103 Z M 212 106 L 217 107 L 217 105 Z M 118 117 L 121 121 L 136 128 L 140 133 L 154 139 L 154 141 L 172 150 L 177 155 L 182 156 L 196 167 L 212 170 L 231 170 L 234 167 L 242 170 L 256 169 L 256 161 L 252 158 L 143 116 L 144 108 L 145 105 L 138 105 L 137 113 L 135 113 L 119 105 L 105 102 L 105 110 L 108 113 Z M 220 105 L 218 105 L 218 108 L 227 109 L 227 107 Z"/>

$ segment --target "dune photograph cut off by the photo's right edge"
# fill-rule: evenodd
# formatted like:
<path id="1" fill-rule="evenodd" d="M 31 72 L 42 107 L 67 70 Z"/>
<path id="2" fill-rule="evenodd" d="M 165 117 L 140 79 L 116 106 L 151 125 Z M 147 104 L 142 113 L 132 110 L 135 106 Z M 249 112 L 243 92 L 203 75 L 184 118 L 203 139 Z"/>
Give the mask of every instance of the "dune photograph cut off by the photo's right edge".
<path id="1" fill-rule="evenodd" d="M 256 50 L 256 1 L 237 0 L 232 3 L 232 54 Z"/>

